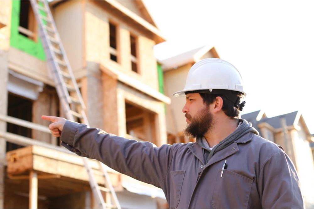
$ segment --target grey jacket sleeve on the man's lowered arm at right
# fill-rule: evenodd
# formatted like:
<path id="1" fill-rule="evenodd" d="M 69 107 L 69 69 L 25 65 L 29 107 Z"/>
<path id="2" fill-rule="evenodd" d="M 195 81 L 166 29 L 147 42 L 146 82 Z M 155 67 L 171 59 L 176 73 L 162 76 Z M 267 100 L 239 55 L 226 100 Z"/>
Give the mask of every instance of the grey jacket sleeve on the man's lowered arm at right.
<path id="1" fill-rule="evenodd" d="M 263 208 L 305 208 L 295 166 L 283 150 L 263 164 L 258 181 Z"/>

